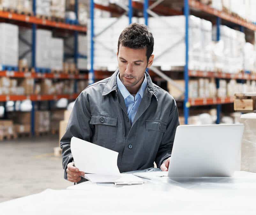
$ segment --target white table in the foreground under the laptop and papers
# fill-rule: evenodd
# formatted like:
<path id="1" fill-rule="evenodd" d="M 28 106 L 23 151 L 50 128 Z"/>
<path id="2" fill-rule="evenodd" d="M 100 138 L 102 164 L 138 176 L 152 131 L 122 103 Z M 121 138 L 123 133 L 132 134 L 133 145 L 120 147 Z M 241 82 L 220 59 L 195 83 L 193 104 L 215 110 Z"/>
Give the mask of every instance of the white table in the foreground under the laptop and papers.
<path id="1" fill-rule="evenodd" d="M 256 173 L 232 178 L 145 180 L 141 185 L 84 182 L 0 203 L 0 214 L 256 214 Z"/>

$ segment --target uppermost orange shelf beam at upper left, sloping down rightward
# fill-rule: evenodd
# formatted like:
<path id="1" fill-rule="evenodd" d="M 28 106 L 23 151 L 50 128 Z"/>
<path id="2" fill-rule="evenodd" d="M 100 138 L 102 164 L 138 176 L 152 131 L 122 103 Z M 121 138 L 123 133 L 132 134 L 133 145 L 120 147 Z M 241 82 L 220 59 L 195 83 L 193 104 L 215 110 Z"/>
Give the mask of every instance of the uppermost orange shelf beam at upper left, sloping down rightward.
<path id="1" fill-rule="evenodd" d="M 85 27 L 85 26 L 66 24 L 66 23 L 62 23 L 62 22 L 55 22 L 55 21 L 51 21 L 51 20 L 41 19 L 41 18 L 38 18 L 35 16 L 27 16 L 27 15 L 22 15 L 22 14 L 11 13 L 11 12 L 7 12 L 7 11 L 0 11 L 0 17 L 9 19 L 9 20 L 16 20 L 16 21 L 31 23 L 31 24 L 39 24 L 39 25 L 67 29 L 67 30 L 72 30 L 72 31 L 81 31 L 81 32 L 87 31 L 87 27 Z"/>

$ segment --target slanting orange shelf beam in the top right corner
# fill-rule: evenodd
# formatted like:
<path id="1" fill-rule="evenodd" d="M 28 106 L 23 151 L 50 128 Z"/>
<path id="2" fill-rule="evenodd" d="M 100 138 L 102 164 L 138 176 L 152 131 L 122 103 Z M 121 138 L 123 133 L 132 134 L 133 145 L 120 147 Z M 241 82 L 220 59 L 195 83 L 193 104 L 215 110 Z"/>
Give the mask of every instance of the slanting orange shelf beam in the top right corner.
<path id="1" fill-rule="evenodd" d="M 222 19 L 225 19 L 227 21 L 230 21 L 232 23 L 236 23 L 239 25 L 242 25 L 248 29 L 251 29 L 252 31 L 256 31 L 256 25 L 251 23 L 251 22 L 246 22 L 245 20 L 242 20 L 241 18 L 234 17 L 226 12 L 216 10 L 212 7 L 209 7 L 206 4 L 200 3 L 199 1 L 196 0 L 189 0 L 189 6 L 193 9 L 201 10 L 204 11 L 208 14 L 215 15 L 217 17 L 220 17 Z"/>

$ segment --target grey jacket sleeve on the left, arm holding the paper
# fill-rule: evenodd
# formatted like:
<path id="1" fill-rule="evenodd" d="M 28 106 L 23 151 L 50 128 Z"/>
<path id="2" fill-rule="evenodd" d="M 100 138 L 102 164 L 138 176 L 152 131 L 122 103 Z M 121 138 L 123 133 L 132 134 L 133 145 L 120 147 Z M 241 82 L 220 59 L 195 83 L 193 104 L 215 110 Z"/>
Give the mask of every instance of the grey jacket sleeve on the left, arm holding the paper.
<path id="1" fill-rule="evenodd" d="M 64 169 L 65 179 L 67 179 L 67 165 L 73 161 L 70 149 L 71 138 L 74 136 L 90 142 L 93 132 L 90 120 L 90 105 L 83 91 L 75 101 L 66 132 L 60 140 L 60 148 L 62 149 L 62 166 Z"/>

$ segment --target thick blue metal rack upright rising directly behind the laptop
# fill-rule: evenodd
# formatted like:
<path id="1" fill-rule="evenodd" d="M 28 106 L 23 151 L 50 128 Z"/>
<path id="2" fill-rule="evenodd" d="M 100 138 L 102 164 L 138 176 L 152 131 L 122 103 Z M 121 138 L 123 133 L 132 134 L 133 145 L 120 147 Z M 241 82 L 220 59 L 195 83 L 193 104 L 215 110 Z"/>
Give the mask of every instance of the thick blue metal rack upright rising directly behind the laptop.
<path id="1" fill-rule="evenodd" d="M 185 44 L 186 44 L 186 64 L 184 68 L 184 80 L 185 80 L 185 93 L 184 93 L 184 104 L 183 104 L 183 110 L 184 110 L 184 122 L 185 124 L 188 124 L 188 117 L 189 117 L 189 102 L 188 102 L 188 62 L 189 62 L 189 4 L 188 0 L 184 0 L 184 15 L 185 15 Z"/>

